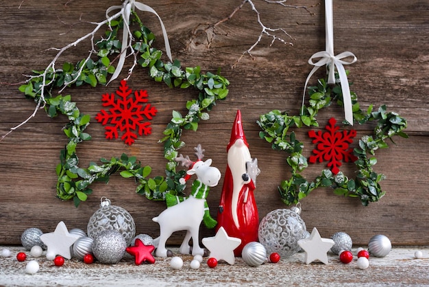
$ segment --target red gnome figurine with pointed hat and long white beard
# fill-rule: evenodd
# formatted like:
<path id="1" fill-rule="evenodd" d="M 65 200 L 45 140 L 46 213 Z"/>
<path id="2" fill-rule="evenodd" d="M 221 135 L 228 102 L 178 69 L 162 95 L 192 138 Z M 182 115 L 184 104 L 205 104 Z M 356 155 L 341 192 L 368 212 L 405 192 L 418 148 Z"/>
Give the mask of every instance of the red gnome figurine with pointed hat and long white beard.
<path id="1" fill-rule="evenodd" d="M 250 157 L 239 110 L 227 152 L 228 165 L 217 214 L 217 229 L 223 227 L 228 236 L 241 239 L 240 246 L 234 250 L 234 255 L 241 256 L 247 243 L 258 241 L 259 216 L 254 190 L 260 170 L 258 160 Z"/>

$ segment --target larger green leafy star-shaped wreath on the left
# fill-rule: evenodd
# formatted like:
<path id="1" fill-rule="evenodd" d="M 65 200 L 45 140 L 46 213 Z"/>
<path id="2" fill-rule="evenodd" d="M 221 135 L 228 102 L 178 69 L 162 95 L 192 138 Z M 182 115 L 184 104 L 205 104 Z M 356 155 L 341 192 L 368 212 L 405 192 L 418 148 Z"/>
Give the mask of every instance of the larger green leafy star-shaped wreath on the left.
<path id="1" fill-rule="evenodd" d="M 137 26 L 134 31 L 135 43 L 132 46 L 136 54 L 140 55 L 138 65 L 149 69 L 149 76 L 156 82 L 164 82 L 169 87 L 186 89 L 193 87 L 199 91 L 195 100 L 186 102 L 188 113 L 182 116 L 173 111 L 173 117 L 164 130 L 164 137 L 160 142 L 164 143 L 164 158 L 167 159 L 166 176 L 149 178 L 151 167 L 143 166 L 136 157 L 121 157 L 100 159 L 101 163 L 91 162 L 88 168 L 79 167 L 79 158 L 76 154 L 77 144 L 89 140 L 91 137 L 84 130 L 90 124 L 90 116 L 82 115 L 75 102 L 71 101 L 71 95 L 53 95 L 53 91 L 63 87 L 80 87 L 89 84 L 96 87 L 97 84 L 106 84 L 109 74 L 114 73 L 114 66 L 110 58 L 119 54 L 121 41 L 117 39 L 119 30 L 123 28 L 122 19 L 110 21 L 106 38 L 97 42 L 98 59 L 86 58 L 73 65 L 65 62 L 62 69 L 47 68 L 44 71 L 33 71 L 34 75 L 19 90 L 25 96 L 34 99 L 35 102 L 45 103 L 45 111 L 50 117 L 56 117 L 58 113 L 66 115 L 69 122 L 63 128 L 64 134 L 69 138 L 63 150 L 60 152 L 60 163 L 56 167 L 58 175 L 57 196 L 62 200 L 73 198 L 77 207 L 81 201 L 85 201 L 93 191 L 90 185 L 94 181 L 108 182 L 111 174 L 120 172 L 124 178 L 134 177 L 138 186 L 136 192 L 144 194 L 150 200 L 164 200 L 167 192 L 183 195 L 184 185 L 179 179 L 184 176 L 184 171 L 176 171 L 177 150 L 185 143 L 180 138 L 183 130 L 197 130 L 200 120 L 209 119 L 208 111 L 215 106 L 217 100 L 224 100 L 228 95 L 228 80 L 219 74 L 201 73 L 199 67 L 186 67 L 182 69 L 179 60 L 172 63 L 164 63 L 160 60 L 162 51 L 152 47 L 155 41 L 154 34 L 132 12 L 130 27 Z M 42 89 L 43 88 L 43 89 Z"/>

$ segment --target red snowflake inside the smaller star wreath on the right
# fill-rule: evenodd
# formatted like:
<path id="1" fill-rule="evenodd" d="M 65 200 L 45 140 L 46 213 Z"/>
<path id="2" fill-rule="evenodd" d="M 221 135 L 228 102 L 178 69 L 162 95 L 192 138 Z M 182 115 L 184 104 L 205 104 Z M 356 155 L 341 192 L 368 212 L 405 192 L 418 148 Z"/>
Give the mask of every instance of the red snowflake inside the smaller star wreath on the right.
<path id="1" fill-rule="evenodd" d="M 338 174 L 341 160 L 353 162 L 358 158 L 354 156 L 353 148 L 349 148 L 349 143 L 356 137 L 356 130 L 343 130 L 341 133 L 338 132 L 340 127 L 335 124 L 336 120 L 332 117 L 326 126 L 328 132 L 322 133 L 320 130 L 317 133 L 314 130 L 308 132 L 308 136 L 313 139 L 312 143 L 317 143 L 317 148 L 312 150 L 315 155 L 310 156 L 308 161 L 310 163 L 329 161 L 328 168 L 333 174 Z"/>

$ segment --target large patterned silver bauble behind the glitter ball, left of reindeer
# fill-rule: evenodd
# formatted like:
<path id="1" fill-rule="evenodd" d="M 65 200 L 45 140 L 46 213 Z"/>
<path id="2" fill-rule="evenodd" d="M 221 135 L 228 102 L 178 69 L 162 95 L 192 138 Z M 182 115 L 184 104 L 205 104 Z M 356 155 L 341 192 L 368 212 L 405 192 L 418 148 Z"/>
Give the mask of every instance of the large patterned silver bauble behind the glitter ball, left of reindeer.
<path id="1" fill-rule="evenodd" d="M 116 230 L 122 234 L 130 245 L 136 235 L 136 225 L 131 214 L 122 207 L 110 205 L 110 200 L 101 199 L 100 208 L 95 211 L 88 222 L 88 236 L 95 238 L 103 230 Z"/>

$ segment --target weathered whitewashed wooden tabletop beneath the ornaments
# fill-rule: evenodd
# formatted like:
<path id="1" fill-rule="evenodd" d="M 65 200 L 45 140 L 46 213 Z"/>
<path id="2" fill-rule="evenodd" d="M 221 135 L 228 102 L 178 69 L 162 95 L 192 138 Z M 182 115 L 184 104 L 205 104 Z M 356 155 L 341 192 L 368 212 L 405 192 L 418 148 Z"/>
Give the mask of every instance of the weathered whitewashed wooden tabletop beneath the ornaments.
<path id="1" fill-rule="evenodd" d="M 354 260 L 343 264 L 338 255 L 328 253 L 328 264 L 319 261 L 306 265 L 304 253 L 282 258 L 277 264 L 265 263 L 248 266 L 242 258 L 235 264 L 219 262 L 216 268 L 207 266 L 207 257 L 198 269 L 189 265 L 191 255 L 180 255 L 183 266 L 180 270 L 170 268 L 171 257 L 156 257 L 154 264 L 136 266 L 134 258 L 125 255 L 115 265 L 84 264 L 75 258 L 66 260 L 61 267 L 54 266 L 42 257 L 27 254 L 25 262 L 18 262 L 16 253 L 23 247 L 0 246 L 10 249 L 11 257 L 0 257 L 0 286 L 138 286 L 144 282 L 150 286 L 429 286 L 428 247 L 394 248 L 386 257 L 369 257 L 369 267 L 357 266 L 356 249 Z M 415 251 L 422 258 L 415 258 Z M 177 251 L 177 249 L 173 249 Z M 29 260 L 36 260 L 39 271 L 34 275 L 25 273 Z"/>

